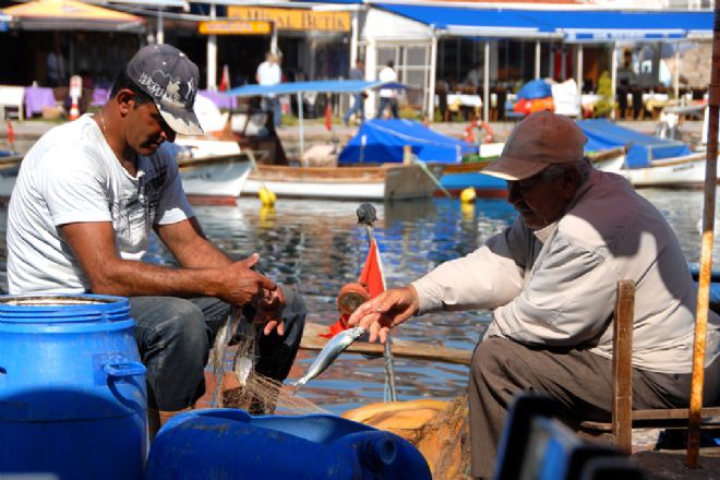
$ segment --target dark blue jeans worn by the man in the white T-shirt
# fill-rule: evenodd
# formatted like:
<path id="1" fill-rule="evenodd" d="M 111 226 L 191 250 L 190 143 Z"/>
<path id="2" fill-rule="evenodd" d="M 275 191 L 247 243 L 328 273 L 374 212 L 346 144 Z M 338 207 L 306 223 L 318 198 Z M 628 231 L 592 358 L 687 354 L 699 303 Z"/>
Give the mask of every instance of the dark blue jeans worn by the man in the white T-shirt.
<path id="1" fill-rule="evenodd" d="M 255 372 L 283 381 L 300 347 L 305 305 L 293 290 L 283 287 L 285 336 L 262 336 Z M 147 368 L 147 406 L 177 411 L 192 406 L 205 393 L 205 373 L 215 335 L 231 307 L 211 297 L 131 297 L 130 315 L 135 320 L 140 358 Z M 251 321 L 251 309 L 243 320 Z"/>

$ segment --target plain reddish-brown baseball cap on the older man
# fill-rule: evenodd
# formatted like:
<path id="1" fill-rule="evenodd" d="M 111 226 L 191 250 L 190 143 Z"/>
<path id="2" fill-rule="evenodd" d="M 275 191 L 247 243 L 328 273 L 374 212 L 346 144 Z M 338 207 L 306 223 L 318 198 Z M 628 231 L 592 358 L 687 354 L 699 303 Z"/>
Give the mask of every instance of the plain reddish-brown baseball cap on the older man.
<path id="1" fill-rule="evenodd" d="M 581 160 L 587 141 L 571 118 L 548 110 L 537 111 L 515 127 L 500 158 L 482 172 L 505 180 L 523 180 L 550 165 Z"/>

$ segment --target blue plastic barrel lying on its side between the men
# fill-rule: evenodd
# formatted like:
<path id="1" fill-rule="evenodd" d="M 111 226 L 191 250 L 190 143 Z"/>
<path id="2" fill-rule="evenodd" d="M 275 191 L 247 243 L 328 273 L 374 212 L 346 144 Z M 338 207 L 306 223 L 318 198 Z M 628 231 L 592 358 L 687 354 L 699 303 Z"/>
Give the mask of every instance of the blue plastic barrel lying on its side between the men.
<path id="1" fill-rule="evenodd" d="M 329 415 L 251 417 L 208 409 L 178 415 L 160 429 L 147 480 L 431 479 L 412 444 Z"/>

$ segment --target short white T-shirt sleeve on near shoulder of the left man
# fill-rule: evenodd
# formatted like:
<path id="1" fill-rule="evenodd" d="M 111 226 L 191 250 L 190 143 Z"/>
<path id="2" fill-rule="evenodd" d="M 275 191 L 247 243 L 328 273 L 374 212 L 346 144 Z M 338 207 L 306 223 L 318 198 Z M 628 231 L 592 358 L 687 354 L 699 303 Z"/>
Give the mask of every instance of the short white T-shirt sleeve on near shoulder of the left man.
<path id="1" fill-rule="evenodd" d="M 97 155 L 60 144 L 46 153 L 43 165 L 38 188 L 53 225 L 112 220 L 108 178 Z"/>

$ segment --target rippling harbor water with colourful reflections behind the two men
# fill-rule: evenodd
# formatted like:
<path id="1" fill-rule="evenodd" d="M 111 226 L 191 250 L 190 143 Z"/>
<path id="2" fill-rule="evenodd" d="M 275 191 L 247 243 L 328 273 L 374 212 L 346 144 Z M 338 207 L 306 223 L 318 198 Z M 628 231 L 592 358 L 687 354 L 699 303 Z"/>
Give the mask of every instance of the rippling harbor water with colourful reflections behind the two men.
<path id="1" fill-rule="evenodd" d="M 677 233 L 688 262 L 699 261 L 701 191 L 641 190 Z M 300 291 L 308 305 L 308 321 L 331 325 L 337 317 L 336 296 L 356 281 L 368 252 L 368 235 L 357 224 L 356 202 L 279 200 L 274 209 L 257 199 L 239 199 L 236 206 L 195 206 L 195 214 L 211 240 L 226 252 L 261 255 L 260 266 L 273 279 Z M 465 255 L 516 217 L 503 200 L 478 200 L 461 206 L 457 199 L 432 199 L 374 204 L 379 220 L 374 233 L 380 245 L 388 287 L 407 285 L 440 263 Z M 7 207 L 0 208 L 3 242 Z M 718 242 L 716 241 L 716 244 Z M 718 265 L 720 249 L 713 252 Z M 147 260 L 172 264 L 172 257 L 153 239 Z M 4 273 L 3 273 L 4 274 Z M 396 328 L 397 338 L 427 345 L 471 350 L 487 328 L 489 312 L 430 314 Z M 290 377 L 302 375 L 316 352 L 301 351 Z M 463 365 L 396 358 L 398 399 L 449 399 L 463 393 L 468 370 Z M 339 413 L 384 394 L 383 359 L 344 353 L 299 395 Z"/>

